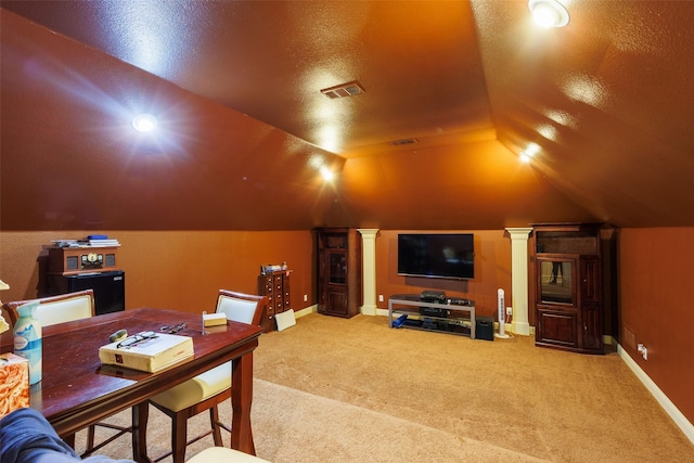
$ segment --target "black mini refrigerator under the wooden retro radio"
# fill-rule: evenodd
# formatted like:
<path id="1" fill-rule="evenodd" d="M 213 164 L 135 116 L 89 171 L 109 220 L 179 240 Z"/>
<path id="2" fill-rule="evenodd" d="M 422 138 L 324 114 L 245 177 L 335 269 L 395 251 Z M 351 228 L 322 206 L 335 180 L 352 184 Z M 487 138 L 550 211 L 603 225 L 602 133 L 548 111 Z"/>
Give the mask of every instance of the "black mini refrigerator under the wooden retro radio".
<path id="1" fill-rule="evenodd" d="M 126 272 L 123 270 L 48 276 L 48 291 L 51 296 L 82 290 L 94 291 L 97 316 L 126 309 Z"/>

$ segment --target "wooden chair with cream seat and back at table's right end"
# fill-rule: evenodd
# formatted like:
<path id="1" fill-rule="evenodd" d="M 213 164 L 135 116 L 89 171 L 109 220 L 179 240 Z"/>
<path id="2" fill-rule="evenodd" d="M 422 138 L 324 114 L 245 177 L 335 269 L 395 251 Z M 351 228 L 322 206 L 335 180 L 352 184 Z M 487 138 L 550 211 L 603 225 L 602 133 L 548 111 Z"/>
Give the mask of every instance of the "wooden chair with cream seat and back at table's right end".
<path id="1" fill-rule="evenodd" d="M 217 312 L 226 313 L 228 320 L 260 324 L 262 310 L 268 305 L 267 296 L 234 293 L 220 290 L 217 298 Z M 221 447 L 220 429 L 231 432 L 230 426 L 219 421 L 217 406 L 231 398 L 231 362 L 216 366 L 178 386 L 160 393 L 149 400 L 149 403 L 171 419 L 171 451 L 153 460 L 157 462 L 174 455 L 174 463 L 183 463 L 185 448 L 205 436 L 213 435 L 215 446 Z M 190 441 L 188 440 L 188 419 L 209 410 L 210 429 Z M 139 441 L 146 454 L 146 423 L 149 406 L 141 407 Z"/>

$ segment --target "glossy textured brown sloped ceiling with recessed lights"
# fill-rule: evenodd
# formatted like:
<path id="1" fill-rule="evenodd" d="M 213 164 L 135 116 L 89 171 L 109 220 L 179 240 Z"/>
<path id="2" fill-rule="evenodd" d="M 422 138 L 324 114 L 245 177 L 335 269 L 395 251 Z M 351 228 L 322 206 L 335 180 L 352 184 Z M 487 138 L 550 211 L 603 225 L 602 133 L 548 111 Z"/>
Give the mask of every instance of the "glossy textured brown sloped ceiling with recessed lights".
<path id="1" fill-rule="evenodd" d="M 0 227 L 694 226 L 694 2 L 562 1 L 2 0 Z"/>

